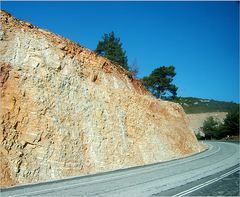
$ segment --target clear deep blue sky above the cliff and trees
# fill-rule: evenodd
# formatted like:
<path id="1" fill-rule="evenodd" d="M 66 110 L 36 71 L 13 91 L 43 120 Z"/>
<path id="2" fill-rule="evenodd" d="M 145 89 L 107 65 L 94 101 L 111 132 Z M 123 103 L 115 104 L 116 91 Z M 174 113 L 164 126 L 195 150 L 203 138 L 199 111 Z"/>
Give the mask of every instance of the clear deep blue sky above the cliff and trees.
<path id="1" fill-rule="evenodd" d="M 239 102 L 237 2 L 1 2 L 1 9 L 94 50 L 121 39 L 138 77 L 174 65 L 179 96 Z"/>

